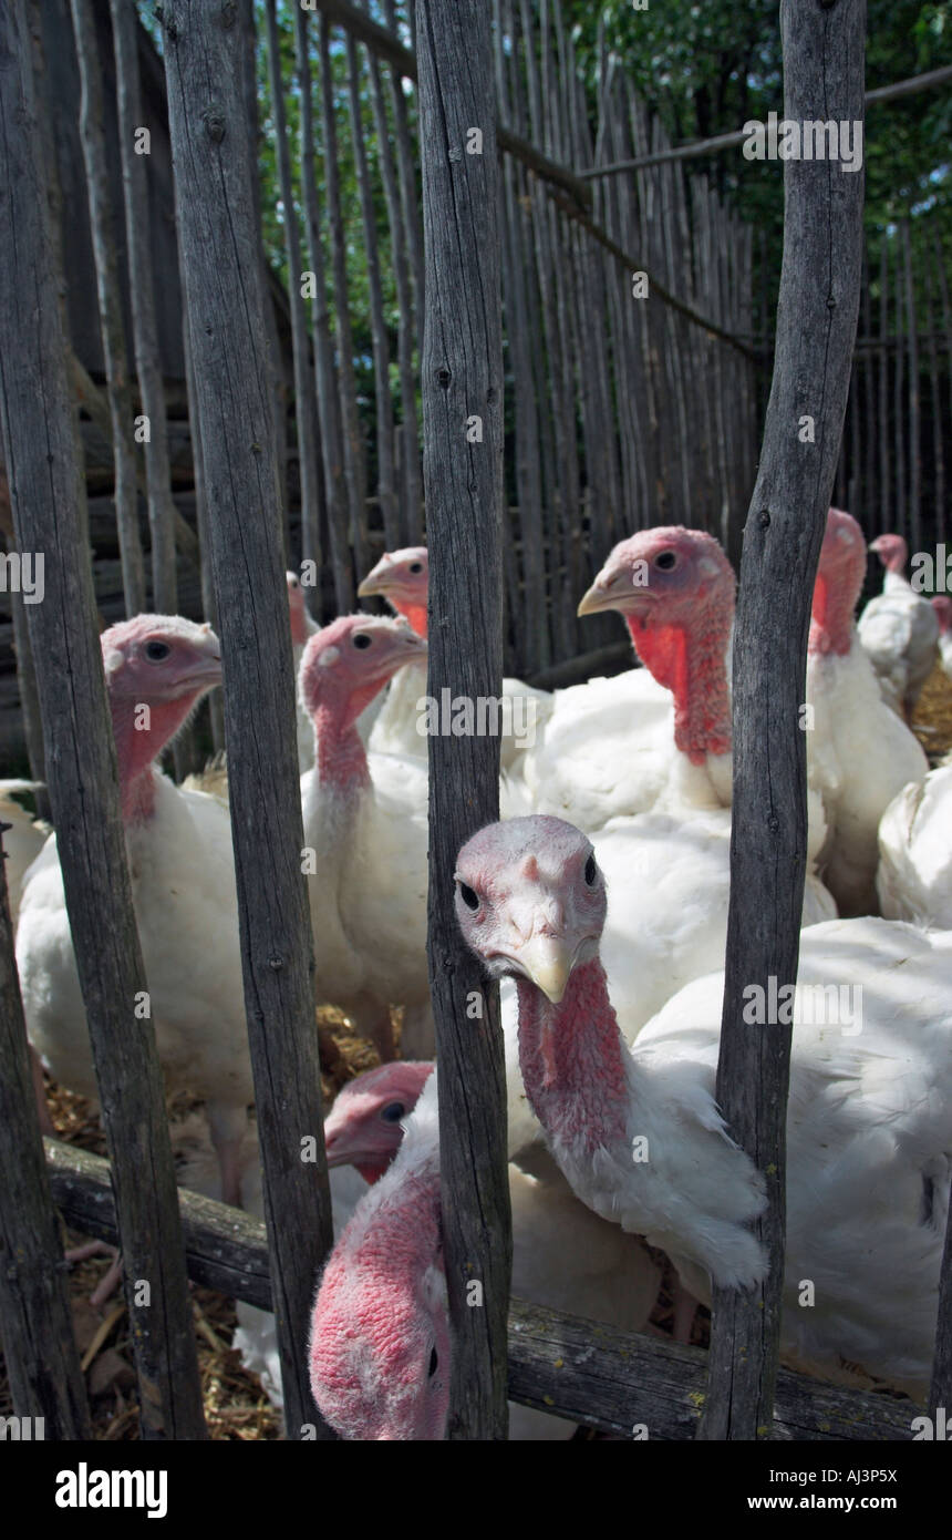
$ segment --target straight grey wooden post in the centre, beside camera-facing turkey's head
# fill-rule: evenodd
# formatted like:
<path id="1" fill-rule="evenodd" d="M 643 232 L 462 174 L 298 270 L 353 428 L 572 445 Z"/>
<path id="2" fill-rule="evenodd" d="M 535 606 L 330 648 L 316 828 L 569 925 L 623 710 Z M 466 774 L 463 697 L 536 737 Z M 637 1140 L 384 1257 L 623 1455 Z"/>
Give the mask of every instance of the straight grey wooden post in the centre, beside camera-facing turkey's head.
<path id="1" fill-rule="evenodd" d="M 488 0 L 417 0 L 426 251 L 428 693 L 501 693 L 503 343 Z M 504 1438 L 512 1244 L 495 989 L 454 915 L 460 845 L 498 818 L 498 738 L 429 739 L 429 969 L 440 1058 L 451 1438 Z"/>

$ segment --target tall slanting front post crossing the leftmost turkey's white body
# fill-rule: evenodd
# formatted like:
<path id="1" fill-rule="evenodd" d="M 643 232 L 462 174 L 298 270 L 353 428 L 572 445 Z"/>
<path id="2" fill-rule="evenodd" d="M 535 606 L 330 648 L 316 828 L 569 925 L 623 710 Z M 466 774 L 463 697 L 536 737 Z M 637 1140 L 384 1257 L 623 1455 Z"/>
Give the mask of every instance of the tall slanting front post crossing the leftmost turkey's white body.
<path id="1" fill-rule="evenodd" d="M 86 493 L 54 277 L 25 0 L 0 11 L 0 413 L 20 551 L 43 553 L 26 607 L 66 907 L 115 1201 L 143 1438 L 201 1438 L 181 1226 L 118 812 L 86 545 Z M 143 1180 L 143 1172 L 148 1180 Z M 148 1287 L 143 1287 L 146 1286 Z M 148 1303 L 146 1303 L 148 1298 Z"/>

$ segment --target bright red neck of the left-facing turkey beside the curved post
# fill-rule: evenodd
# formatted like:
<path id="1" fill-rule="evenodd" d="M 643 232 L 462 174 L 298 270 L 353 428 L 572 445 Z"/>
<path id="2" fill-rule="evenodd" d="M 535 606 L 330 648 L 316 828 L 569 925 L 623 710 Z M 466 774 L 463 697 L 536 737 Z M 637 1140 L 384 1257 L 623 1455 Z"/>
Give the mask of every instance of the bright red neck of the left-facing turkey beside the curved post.
<path id="1" fill-rule="evenodd" d="M 734 599 L 709 602 L 684 625 L 626 616 L 638 658 L 674 695 L 674 741 L 692 764 L 731 752 L 726 651 Z"/>

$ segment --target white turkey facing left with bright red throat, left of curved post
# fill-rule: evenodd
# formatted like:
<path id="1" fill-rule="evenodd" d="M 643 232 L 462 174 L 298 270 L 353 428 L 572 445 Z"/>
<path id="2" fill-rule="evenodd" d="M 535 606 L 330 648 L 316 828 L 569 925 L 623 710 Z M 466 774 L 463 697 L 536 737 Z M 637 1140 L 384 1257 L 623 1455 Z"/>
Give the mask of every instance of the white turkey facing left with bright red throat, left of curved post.
<path id="1" fill-rule="evenodd" d="M 523 756 L 537 812 L 603 829 L 663 798 L 731 804 L 724 656 L 734 571 L 703 530 L 643 530 L 614 548 L 578 605 L 618 610 L 644 668 L 558 690 Z"/>

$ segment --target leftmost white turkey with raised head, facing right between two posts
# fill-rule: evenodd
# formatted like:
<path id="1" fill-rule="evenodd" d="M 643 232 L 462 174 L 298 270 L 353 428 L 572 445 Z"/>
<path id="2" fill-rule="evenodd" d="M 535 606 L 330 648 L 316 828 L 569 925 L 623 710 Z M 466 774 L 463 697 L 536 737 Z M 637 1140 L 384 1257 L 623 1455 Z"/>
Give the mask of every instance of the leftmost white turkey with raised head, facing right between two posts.
<path id="1" fill-rule="evenodd" d="M 169 1089 L 188 1086 L 206 1101 L 223 1197 L 240 1203 L 252 1080 L 231 825 L 217 798 L 175 787 L 157 767 L 221 681 L 218 638 L 180 616 L 138 614 L 100 641 L 158 1056 Z M 17 967 L 31 1043 L 54 1080 L 95 1100 L 55 835 L 23 882 Z"/>

